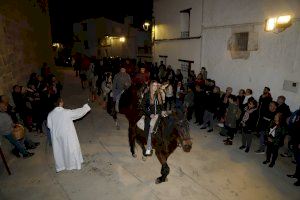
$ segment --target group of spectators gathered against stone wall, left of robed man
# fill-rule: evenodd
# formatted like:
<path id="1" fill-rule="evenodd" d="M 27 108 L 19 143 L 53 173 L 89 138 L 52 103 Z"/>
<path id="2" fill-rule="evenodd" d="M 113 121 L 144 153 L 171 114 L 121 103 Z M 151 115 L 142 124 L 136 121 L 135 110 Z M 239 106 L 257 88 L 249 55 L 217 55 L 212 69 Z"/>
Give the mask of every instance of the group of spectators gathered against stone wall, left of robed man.
<path id="1" fill-rule="evenodd" d="M 35 131 L 37 135 L 47 134 L 50 137 L 46 119 L 61 90 L 62 84 L 51 73 L 47 63 L 43 63 L 40 72 L 30 74 L 25 86 L 13 86 L 11 96 L 14 106 L 10 104 L 9 95 L 1 95 L 0 134 L 14 146 L 12 153 L 16 157 L 21 157 L 20 154 L 24 158 L 33 156 L 34 153 L 29 150 L 40 144 L 31 141 L 26 133 L 19 132 Z"/>

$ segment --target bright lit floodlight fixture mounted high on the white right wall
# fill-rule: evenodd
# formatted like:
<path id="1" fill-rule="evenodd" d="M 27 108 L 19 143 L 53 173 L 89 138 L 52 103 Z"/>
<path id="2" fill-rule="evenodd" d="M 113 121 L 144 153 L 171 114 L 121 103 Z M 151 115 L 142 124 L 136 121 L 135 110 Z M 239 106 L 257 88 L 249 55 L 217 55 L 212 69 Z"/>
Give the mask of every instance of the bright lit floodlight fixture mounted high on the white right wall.
<path id="1" fill-rule="evenodd" d="M 291 15 L 272 17 L 266 20 L 265 31 L 279 33 L 292 25 Z"/>

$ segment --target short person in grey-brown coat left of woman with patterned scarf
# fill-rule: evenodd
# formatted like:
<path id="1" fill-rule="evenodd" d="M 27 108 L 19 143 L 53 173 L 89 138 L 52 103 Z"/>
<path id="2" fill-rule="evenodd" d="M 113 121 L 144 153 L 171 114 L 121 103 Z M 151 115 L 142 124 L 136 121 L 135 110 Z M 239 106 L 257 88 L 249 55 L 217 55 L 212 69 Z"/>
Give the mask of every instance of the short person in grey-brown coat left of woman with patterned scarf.
<path id="1" fill-rule="evenodd" d="M 228 107 L 225 114 L 225 124 L 224 127 L 227 130 L 227 139 L 224 141 L 225 145 L 232 145 L 232 140 L 234 134 L 236 133 L 236 122 L 241 115 L 241 110 L 239 109 L 237 97 L 231 95 L 228 97 Z"/>

